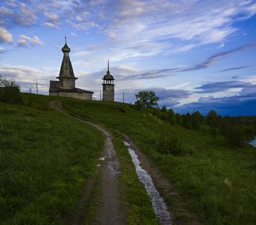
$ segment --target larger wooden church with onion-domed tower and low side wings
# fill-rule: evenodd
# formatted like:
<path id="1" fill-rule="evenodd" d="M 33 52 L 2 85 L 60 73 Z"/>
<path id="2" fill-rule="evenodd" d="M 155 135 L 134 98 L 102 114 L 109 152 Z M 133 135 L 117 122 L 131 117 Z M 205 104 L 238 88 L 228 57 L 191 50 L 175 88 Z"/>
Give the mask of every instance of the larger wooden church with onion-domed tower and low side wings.
<path id="1" fill-rule="evenodd" d="M 67 45 L 67 43 L 65 43 L 65 45 L 62 47 L 63 58 L 59 71 L 59 77 L 56 77 L 57 79 L 59 79 L 59 81 L 50 80 L 49 95 L 92 100 L 93 92 L 86 91 L 84 89 L 78 89 L 75 87 L 75 80 L 77 80 L 78 78 L 75 77 L 72 63 L 69 58 L 70 51 L 71 50 L 69 46 Z"/>

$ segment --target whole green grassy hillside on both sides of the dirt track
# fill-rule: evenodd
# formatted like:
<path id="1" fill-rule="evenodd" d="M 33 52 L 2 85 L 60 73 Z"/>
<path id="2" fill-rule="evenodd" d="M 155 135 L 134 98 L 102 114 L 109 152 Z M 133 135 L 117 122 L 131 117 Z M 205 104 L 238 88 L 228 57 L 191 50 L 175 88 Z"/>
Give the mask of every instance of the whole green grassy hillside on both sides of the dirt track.
<path id="1" fill-rule="evenodd" d="M 0 103 L 0 222 L 61 224 L 72 213 L 103 147 L 102 133 L 48 108 L 56 98 L 23 95 L 23 104 Z M 230 148 L 221 137 L 171 125 L 130 104 L 59 98 L 70 113 L 110 130 L 121 168 L 127 223 L 157 223 L 121 141 L 126 134 L 181 193 L 205 224 L 254 224 L 256 151 Z M 174 138 L 175 137 L 175 138 Z M 163 154 L 173 142 L 179 148 Z M 167 146 L 168 147 L 168 146 Z M 175 207 L 173 199 L 166 199 Z M 145 208 L 141 206 L 145 205 Z M 143 216 L 142 216 L 143 215 Z M 145 218 L 143 218 L 145 217 Z"/>

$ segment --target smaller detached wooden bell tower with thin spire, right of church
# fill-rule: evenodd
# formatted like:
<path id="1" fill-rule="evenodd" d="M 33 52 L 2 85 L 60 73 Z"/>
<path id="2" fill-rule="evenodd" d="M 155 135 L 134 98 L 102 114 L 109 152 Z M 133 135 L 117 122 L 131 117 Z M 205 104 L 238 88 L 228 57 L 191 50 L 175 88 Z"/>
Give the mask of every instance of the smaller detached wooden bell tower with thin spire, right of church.
<path id="1" fill-rule="evenodd" d="M 102 80 L 102 101 L 114 101 L 114 77 L 109 72 L 109 60 L 107 74 Z"/>

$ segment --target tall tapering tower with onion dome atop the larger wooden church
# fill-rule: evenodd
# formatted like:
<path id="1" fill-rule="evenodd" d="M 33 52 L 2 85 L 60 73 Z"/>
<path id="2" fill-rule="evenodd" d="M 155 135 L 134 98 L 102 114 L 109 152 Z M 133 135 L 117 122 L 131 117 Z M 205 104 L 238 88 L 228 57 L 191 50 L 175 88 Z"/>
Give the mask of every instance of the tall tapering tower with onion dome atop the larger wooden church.
<path id="1" fill-rule="evenodd" d="M 71 49 L 69 48 L 66 37 L 65 37 L 65 45 L 62 47 L 63 58 L 62 64 L 59 71 L 59 88 L 60 89 L 74 89 L 75 88 L 75 80 L 78 78 L 75 77 L 72 63 L 69 58 L 69 52 Z"/>

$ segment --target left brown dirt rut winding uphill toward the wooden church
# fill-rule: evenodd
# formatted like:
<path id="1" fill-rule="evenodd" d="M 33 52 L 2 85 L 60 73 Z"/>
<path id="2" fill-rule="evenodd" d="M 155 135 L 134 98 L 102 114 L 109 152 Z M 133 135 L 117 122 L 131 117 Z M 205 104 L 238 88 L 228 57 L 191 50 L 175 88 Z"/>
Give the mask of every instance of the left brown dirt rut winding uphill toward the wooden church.
<path id="1" fill-rule="evenodd" d="M 101 172 L 101 191 L 93 224 L 125 224 L 124 212 L 120 205 L 120 192 L 117 187 L 117 175 L 120 173 L 120 166 L 114 151 L 111 134 L 97 124 L 84 121 L 75 115 L 70 115 L 63 110 L 60 101 L 50 101 L 49 107 L 69 117 L 75 118 L 78 121 L 90 124 L 104 133 L 104 151 L 102 152 L 101 160 L 98 164 Z M 72 215 L 65 218 L 66 224 L 84 224 L 84 220 L 87 216 L 87 205 L 90 203 L 90 199 L 92 199 L 92 193 L 96 185 L 99 185 L 99 181 L 95 178 L 90 178 L 89 181 L 87 181 L 83 196 L 78 200 L 78 204 L 75 206 Z"/>

